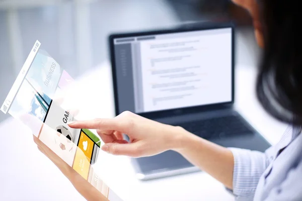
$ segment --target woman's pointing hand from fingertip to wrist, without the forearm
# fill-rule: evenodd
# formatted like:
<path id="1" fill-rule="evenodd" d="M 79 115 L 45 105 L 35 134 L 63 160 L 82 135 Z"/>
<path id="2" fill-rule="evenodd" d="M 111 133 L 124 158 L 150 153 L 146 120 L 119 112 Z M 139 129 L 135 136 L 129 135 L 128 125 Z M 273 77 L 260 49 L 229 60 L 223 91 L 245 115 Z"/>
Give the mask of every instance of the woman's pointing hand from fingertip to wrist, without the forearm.
<path id="1" fill-rule="evenodd" d="M 78 121 L 68 124 L 71 128 L 96 129 L 105 145 L 103 151 L 131 157 L 152 156 L 181 146 L 182 128 L 161 124 L 124 112 L 113 119 Z M 122 134 L 129 137 L 129 142 Z"/>

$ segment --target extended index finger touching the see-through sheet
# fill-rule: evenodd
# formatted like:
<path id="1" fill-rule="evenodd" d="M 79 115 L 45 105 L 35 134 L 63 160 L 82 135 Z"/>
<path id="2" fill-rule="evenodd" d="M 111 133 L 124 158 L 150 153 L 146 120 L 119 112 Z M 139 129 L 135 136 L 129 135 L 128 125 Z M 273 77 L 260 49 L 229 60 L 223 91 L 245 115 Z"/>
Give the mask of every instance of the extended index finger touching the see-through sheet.
<path id="1" fill-rule="evenodd" d="M 88 121 L 76 121 L 68 123 L 74 129 L 97 129 L 97 130 L 121 130 L 120 121 L 116 119 L 95 119 Z"/>

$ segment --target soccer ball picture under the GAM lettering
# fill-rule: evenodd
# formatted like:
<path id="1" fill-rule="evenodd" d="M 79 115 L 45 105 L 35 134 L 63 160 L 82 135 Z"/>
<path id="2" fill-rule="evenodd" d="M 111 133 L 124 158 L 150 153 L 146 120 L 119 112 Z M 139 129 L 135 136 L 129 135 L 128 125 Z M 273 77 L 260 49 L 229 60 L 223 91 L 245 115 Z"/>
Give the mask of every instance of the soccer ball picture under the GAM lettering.
<path id="1" fill-rule="evenodd" d="M 73 147 L 73 136 L 70 131 L 62 125 L 56 127 L 54 140 L 61 150 L 70 151 Z"/>

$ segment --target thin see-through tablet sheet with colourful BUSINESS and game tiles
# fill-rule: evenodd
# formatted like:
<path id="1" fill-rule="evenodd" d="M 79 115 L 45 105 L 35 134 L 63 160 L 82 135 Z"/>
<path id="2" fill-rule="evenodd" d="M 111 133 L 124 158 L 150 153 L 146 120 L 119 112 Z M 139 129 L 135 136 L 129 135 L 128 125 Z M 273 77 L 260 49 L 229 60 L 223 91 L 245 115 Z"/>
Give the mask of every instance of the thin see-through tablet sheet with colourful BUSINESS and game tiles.
<path id="1" fill-rule="evenodd" d="M 100 139 L 88 129 L 67 125 L 76 121 L 75 114 L 79 113 L 68 109 L 78 108 L 77 97 L 83 94 L 70 90 L 74 86 L 70 75 L 40 47 L 41 43 L 36 41 L 0 110 L 23 122 L 57 157 L 109 200 L 122 200 L 93 168 Z"/>

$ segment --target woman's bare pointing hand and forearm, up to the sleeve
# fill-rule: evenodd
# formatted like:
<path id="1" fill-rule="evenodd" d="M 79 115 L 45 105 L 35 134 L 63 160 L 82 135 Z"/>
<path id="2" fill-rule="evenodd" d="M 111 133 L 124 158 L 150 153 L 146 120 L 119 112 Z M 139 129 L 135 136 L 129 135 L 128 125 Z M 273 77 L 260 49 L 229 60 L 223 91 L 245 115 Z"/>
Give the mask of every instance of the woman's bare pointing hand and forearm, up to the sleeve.
<path id="1" fill-rule="evenodd" d="M 72 122 L 69 126 L 97 129 L 106 143 L 102 149 L 114 155 L 142 157 L 170 149 L 177 151 L 232 189 L 234 169 L 232 152 L 182 128 L 161 124 L 130 112 L 114 119 Z M 128 135 L 129 143 L 123 140 L 122 133 Z"/>

